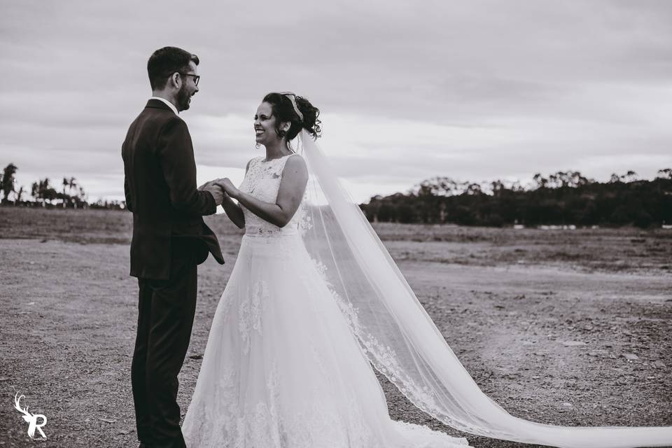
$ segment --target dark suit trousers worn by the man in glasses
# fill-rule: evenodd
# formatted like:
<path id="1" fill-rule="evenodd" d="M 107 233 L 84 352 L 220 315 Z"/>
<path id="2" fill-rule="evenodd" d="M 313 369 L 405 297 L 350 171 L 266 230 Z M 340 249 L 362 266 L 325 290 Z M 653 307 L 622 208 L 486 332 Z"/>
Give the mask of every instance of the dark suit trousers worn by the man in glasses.
<path id="1" fill-rule="evenodd" d="M 184 448 L 177 376 L 196 311 L 197 254 L 172 244 L 169 279 L 138 279 L 138 332 L 131 381 L 138 438 L 151 447 Z"/>

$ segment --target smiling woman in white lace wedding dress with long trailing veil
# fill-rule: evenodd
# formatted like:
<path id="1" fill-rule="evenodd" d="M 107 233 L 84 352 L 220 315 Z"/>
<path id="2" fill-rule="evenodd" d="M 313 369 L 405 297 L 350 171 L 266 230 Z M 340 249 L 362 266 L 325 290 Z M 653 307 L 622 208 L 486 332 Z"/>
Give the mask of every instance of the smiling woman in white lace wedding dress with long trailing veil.
<path id="1" fill-rule="evenodd" d="M 467 433 L 556 447 L 672 445 L 670 427 L 533 423 L 484 395 L 315 144 L 318 115 L 305 98 L 267 94 L 254 119 L 265 156 L 248 162 L 239 188 L 221 180 L 225 212 L 245 235 L 184 419 L 188 447 L 468 445 L 392 420 L 372 366 Z"/>

